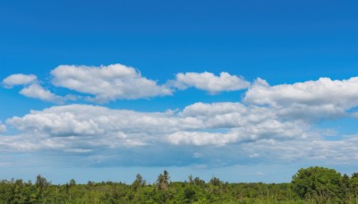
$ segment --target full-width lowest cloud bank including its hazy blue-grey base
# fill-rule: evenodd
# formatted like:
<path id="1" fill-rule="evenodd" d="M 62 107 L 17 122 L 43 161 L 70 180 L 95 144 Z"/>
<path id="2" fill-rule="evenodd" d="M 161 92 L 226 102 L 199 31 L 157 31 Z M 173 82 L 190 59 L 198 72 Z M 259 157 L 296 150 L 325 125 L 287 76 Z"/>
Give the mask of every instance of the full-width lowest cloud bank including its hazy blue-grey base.
<path id="1" fill-rule="evenodd" d="M 51 150 L 120 164 L 143 165 L 150 157 L 173 154 L 181 155 L 175 159 L 185 159 L 185 164 L 200 159 L 209 166 L 243 159 L 304 158 L 344 163 L 358 158 L 352 153 L 358 147 L 354 137 L 325 140 L 322 130 L 315 130 L 309 121 L 288 120 L 275 108 L 241 103 L 196 103 L 177 113 L 52 106 L 6 123 L 20 134 L 1 136 L 3 151 Z M 201 157 L 192 158 L 194 153 Z M 129 161 L 124 155 L 138 160 Z M 175 159 L 166 164 L 178 165 Z"/>

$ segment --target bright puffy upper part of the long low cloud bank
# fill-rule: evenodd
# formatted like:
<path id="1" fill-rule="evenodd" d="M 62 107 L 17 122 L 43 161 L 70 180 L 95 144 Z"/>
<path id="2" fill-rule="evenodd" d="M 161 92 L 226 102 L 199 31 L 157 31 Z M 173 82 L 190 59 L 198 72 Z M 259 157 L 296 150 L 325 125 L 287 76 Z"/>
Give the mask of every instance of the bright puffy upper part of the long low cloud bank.
<path id="1" fill-rule="evenodd" d="M 108 145 L 143 145 L 157 141 L 175 145 L 225 145 L 262 139 L 306 137 L 308 125 L 280 121 L 263 107 L 240 103 L 197 103 L 182 112 L 142 113 L 104 106 L 53 106 L 6 121 L 21 132 L 48 137 L 92 137 Z"/>

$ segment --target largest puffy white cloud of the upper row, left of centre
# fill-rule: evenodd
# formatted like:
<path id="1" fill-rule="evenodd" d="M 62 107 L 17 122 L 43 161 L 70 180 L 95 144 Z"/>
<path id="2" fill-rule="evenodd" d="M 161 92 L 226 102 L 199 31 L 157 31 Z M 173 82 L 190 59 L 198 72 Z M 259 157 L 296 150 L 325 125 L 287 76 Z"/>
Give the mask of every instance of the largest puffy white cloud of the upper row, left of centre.
<path id="1" fill-rule="evenodd" d="M 142 77 L 141 72 L 122 64 L 99 67 L 60 65 L 51 74 L 55 86 L 93 95 L 92 100 L 97 102 L 172 94 L 171 89 Z"/>

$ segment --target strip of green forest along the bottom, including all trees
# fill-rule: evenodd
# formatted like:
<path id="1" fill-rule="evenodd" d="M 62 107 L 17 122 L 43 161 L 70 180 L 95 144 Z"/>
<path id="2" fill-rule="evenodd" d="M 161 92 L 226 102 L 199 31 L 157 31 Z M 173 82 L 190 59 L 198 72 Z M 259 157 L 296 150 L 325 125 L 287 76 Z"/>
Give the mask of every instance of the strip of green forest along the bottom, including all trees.
<path id="1" fill-rule="evenodd" d="M 188 176 L 171 182 L 167 171 L 156 183 L 141 174 L 133 182 L 52 184 L 38 175 L 32 183 L 21 179 L 0 182 L 0 203 L 358 203 L 358 173 L 342 175 L 321 166 L 302 168 L 291 183 L 209 182 Z"/>

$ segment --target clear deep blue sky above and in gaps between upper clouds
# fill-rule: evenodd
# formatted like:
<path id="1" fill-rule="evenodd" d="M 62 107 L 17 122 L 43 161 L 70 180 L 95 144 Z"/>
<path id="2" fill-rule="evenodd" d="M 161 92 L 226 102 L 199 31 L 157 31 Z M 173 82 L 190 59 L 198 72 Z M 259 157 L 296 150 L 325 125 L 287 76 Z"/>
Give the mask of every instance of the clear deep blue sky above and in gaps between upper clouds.
<path id="1" fill-rule="evenodd" d="M 270 84 L 345 79 L 358 75 L 357 11 L 356 0 L 1 1 L 0 77 L 45 80 L 60 64 L 119 63 L 159 83 L 204 71 Z M 3 110 L 44 106 L 1 91 Z M 194 92 L 175 95 L 187 104 L 205 96 Z"/>

